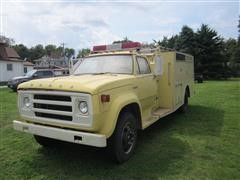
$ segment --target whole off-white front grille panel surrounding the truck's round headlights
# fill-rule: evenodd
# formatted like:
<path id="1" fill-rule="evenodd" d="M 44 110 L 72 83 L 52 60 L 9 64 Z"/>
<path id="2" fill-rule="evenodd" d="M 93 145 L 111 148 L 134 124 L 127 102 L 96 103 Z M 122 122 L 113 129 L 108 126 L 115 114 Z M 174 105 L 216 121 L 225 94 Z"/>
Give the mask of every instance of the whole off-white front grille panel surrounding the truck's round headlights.
<path id="1" fill-rule="evenodd" d="M 30 100 L 30 106 L 26 106 L 26 98 Z M 87 115 L 82 114 L 78 108 L 81 101 L 88 104 Z M 36 123 L 79 128 L 90 128 L 93 123 L 92 95 L 87 93 L 20 90 L 18 107 L 23 118 Z"/>

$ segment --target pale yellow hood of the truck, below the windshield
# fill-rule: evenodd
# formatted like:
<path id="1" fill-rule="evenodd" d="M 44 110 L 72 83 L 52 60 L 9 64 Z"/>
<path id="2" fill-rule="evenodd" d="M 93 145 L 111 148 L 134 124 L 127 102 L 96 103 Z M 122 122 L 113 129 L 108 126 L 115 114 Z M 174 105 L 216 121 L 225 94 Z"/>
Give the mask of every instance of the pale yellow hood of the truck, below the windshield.
<path id="1" fill-rule="evenodd" d="M 54 77 L 22 83 L 18 86 L 18 90 L 42 89 L 97 94 L 102 91 L 130 85 L 130 79 L 132 78 L 133 75 L 122 74 Z"/>

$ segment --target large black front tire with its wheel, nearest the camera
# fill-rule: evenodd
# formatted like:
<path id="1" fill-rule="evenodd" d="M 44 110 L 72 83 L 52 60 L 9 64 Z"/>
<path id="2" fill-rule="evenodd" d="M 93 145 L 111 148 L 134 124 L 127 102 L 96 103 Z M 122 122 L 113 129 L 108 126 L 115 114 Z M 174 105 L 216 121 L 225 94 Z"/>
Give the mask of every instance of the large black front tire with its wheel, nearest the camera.
<path id="1" fill-rule="evenodd" d="M 129 112 L 123 112 L 110 139 L 113 158 L 118 163 L 127 161 L 134 153 L 137 144 L 137 120 Z"/>

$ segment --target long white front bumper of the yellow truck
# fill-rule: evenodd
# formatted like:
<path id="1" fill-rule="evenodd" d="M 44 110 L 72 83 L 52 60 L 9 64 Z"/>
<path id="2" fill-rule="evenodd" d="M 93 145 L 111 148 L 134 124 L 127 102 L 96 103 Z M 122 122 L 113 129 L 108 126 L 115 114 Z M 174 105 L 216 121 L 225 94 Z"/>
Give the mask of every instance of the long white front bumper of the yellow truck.
<path id="1" fill-rule="evenodd" d="M 13 121 L 13 128 L 18 131 L 77 144 L 96 147 L 106 147 L 107 145 L 106 136 L 101 134 L 61 129 L 16 120 Z"/>

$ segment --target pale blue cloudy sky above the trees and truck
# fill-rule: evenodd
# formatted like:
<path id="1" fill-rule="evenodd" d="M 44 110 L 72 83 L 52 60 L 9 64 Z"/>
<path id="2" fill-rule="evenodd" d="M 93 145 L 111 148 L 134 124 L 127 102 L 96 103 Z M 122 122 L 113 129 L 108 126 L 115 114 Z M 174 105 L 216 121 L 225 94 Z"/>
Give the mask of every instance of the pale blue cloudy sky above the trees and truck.
<path id="1" fill-rule="evenodd" d="M 210 25 L 224 38 L 237 38 L 239 1 L 2 0 L 1 34 L 28 47 L 66 43 L 75 49 L 128 37 L 152 42 Z"/>

